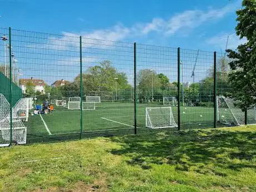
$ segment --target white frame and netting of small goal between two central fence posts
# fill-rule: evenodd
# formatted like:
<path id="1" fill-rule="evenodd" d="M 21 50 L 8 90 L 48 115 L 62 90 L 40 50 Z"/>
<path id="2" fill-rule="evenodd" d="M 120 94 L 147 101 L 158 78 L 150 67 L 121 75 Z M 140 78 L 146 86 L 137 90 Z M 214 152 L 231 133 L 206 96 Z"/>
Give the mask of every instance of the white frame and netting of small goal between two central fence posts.
<path id="1" fill-rule="evenodd" d="M 157 114 L 162 115 L 163 119 L 159 119 L 159 118 L 153 119 L 150 114 L 151 110 L 160 110 L 160 112 L 165 110 L 168 113 L 159 114 L 159 112 L 157 112 Z M 164 124 L 160 123 L 159 125 L 157 125 L 157 122 L 153 122 L 153 121 L 157 121 L 157 119 L 164 120 L 165 121 Z M 146 127 L 151 129 L 161 129 L 161 128 L 178 127 L 178 125 L 174 120 L 171 107 L 146 107 Z"/>

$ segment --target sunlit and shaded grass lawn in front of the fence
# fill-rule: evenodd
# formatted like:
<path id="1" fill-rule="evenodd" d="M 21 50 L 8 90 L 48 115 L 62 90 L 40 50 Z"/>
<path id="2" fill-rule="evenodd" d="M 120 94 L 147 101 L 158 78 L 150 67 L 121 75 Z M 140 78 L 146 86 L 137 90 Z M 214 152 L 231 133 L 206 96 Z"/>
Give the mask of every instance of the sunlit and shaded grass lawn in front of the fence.
<path id="1" fill-rule="evenodd" d="M 49 117 L 50 118 L 50 117 Z M 256 191 L 256 126 L 0 149 L 0 191 Z"/>

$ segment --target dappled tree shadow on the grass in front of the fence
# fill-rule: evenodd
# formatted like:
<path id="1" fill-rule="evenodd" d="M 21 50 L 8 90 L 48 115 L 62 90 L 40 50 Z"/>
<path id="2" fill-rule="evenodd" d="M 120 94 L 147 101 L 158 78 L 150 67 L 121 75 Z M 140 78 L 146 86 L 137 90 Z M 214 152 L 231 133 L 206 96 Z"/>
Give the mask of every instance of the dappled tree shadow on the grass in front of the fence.
<path id="1" fill-rule="evenodd" d="M 128 156 L 130 165 L 140 165 L 150 169 L 152 164 L 171 164 L 179 171 L 188 171 L 191 166 L 196 172 L 225 176 L 214 165 L 224 169 L 256 169 L 256 133 L 250 131 L 190 130 L 150 132 L 144 135 L 111 137 L 119 142 L 122 149 L 112 150 L 112 154 Z M 237 160 L 234 160 L 237 159 Z M 254 159 L 254 160 L 253 160 Z M 209 166 L 210 167 L 210 166 Z"/>

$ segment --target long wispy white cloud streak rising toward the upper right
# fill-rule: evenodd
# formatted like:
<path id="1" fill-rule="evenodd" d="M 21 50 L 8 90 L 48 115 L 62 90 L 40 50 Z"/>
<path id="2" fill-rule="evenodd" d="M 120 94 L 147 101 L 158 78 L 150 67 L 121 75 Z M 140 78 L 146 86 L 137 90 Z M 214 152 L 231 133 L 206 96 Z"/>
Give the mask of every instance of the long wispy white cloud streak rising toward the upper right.
<path id="1" fill-rule="evenodd" d="M 119 23 L 113 27 L 107 29 L 96 29 L 92 32 L 62 32 L 62 37 L 49 37 L 48 42 L 45 44 L 47 48 L 53 48 L 55 50 L 69 50 L 71 47 L 79 46 L 79 36 L 82 36 L 83 47 L 92 47 L 96 44 L 99 45 L 101 41 L 102 47 L 112 45 L 112 41 L 125 41 L 127 38 L 136 36 L 146 36 L 151 32 L 158 32 L 162 35 L 174 35 L 180 30 L 193 29 L 204 22 L 211 21 L 213 19 L 219 19 L 225 16 L 229 12 L 235 11 L 240 5 L 240 1 L 229 3 L 227 6 L 219 9 L 208 9 L 207 11 L 201 11 L 199 9 L 188 10 L 178 14 L 175 14 L 169 19 L 153 18 L 148 23 L 135 23 L 131 27 L 125 27 Z M 79 18 L 81 20 L 81 18 Z M 85 39 L 87 38 L 87 39 Z"/>

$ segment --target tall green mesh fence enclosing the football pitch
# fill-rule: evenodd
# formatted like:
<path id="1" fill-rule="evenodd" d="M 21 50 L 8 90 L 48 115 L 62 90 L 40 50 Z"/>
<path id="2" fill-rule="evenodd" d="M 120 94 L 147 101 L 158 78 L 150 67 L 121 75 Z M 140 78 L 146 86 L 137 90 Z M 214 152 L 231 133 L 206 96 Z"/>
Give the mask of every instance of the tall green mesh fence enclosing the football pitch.
<path id="1" fill-rule="evenodd" d="M 214 127 L 215 120 L 217 126 L 233 126 L 244 120 L 244 112 L 234 107 L 228 60 L 221 53 L 214 60 L 214 52 L 201 50 L 0 32 L 12 40 L 12 52 L 8 40 L 0 44 L 0 93 L 8 101 L 12 81 L 14 117 L 26 127 L 27 143 L 198 129 Z M 253 123 L 253 109 L 248 114 Z"/>

